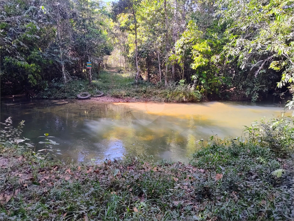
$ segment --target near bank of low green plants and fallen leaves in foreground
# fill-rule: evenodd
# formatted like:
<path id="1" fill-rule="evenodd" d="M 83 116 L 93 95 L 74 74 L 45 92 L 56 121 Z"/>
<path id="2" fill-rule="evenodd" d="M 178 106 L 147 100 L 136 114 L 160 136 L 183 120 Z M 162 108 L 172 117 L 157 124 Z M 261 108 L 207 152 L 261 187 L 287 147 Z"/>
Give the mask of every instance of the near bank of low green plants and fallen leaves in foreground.
<path id="1" fill-rule="evenodd" d="M 0 157 L 2 220 L 294 217 L 294 130 L 285 119 L 247 128 L 246 138 L 211 138 L 186 165 L 143 157 L 98 165 L 38 159 L 19 140 L 20 131 L 6 127 Z"/>

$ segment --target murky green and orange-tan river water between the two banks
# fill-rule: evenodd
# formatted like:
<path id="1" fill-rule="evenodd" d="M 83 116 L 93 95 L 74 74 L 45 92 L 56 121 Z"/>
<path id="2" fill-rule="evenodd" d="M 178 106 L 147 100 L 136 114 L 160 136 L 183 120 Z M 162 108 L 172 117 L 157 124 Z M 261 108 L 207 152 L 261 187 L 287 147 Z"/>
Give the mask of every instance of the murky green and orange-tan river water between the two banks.
<path id="1" fill-rule="evenodd" d="M 191 154 L 212 135 L 241 136 L 243 125 L 260 118 L 281 116 L 284 107 L 273 103 L 108 103 L 67 100 L 1 101 L 1 122 L 11 116 L 16 126 L 25 120 L 23 136 L 38 143 L 49 133 L 60 145 L 60 159 L 101 162 L 123 155 L 152 155 L 188 162 Z M 286 113 L 286 115 L 290 113 Z M 37 149 L 42 145 L 37 144 Z"/>

